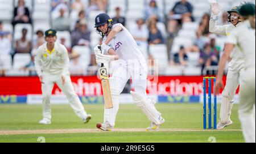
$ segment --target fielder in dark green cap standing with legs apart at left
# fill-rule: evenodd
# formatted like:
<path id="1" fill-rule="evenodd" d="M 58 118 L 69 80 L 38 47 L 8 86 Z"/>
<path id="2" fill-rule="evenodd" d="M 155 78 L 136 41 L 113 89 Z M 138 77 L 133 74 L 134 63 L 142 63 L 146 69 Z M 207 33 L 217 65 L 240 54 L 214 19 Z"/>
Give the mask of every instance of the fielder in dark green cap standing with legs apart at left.
<path id="1" fill-rule="evenodd" d="M 39 123 L 51 124 L 50 97 L 55 83 L 67 96 L 76 115 L 84 123 L 89 122 L 92 115 L 86 114 L 84 106 L 75 93 L 68 71 L 68 52 L 63 45 L 55 42 L 56 33 L 55 29 L 49 29 L 45 32 L 47 42 L 39 46 L 35 57 L 35 68 L 42 83 L 43 94 L 43 119 Z"/>

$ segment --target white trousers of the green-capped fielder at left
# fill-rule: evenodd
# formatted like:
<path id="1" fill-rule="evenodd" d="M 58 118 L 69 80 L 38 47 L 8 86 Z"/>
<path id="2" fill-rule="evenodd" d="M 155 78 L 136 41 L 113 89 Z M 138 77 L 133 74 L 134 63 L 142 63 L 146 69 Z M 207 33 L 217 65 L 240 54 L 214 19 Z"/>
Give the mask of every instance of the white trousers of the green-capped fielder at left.
<path id="1" fill-rule="evenodd" d="M 64 95 L 67 97 L 71 108 L 74 110 L 76 115 L 82 119 L 86 118 L 87 114 L 84 110 L 79 97 L 75 93 L 69 73 L 64 75 L 65 83 L 63 85 L 61 74 L 50 74 L 43 72 L 42 81 L 42 94 L 43 94 L 43 118 L 51 119 L 51 104 L 50 97 L 52 95 L 53 85 L 56 83 Z"/>

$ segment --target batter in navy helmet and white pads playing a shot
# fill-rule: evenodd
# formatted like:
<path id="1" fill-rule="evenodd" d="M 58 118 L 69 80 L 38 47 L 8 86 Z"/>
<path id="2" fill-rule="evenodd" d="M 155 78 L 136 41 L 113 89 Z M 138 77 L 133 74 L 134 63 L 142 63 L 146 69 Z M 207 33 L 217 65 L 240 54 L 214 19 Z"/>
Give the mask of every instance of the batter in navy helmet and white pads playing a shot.
<path id="1" fill-rule="evenodd" d="M 133 36 L 122 24 L 114 24 L 107 14 L 99 14 L 95 18 L 95 28 L 102 36 L 101 51 L 98 45 L 94 48 L 97 63 L 115 61 L 113 75 L 110 78 L 113 108 L 104 110 L 104 123 L 101 130 L 112 131 L 119 108 L 118 97 L 127 80 L 133 79 L 135 92 L 131 91 L 134 103 L 146 114 L 151 122 L 147 131 L 156 131 L 164 123 L 161 114 L 155 109 L 152 100 L 146 95 L 147 65 Z"/>

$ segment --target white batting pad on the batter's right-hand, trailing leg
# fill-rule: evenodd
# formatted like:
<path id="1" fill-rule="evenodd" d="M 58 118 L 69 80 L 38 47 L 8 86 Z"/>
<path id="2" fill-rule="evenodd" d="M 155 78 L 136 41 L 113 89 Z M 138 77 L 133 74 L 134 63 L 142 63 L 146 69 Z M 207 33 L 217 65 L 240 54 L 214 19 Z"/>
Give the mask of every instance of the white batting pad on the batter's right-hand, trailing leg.
<path id="1" fill-rule="evenodd" d="M 146 97 L 131 91 L 131 96 L 133 97 L 134 103 L 141 108 L 142 112 L 146 114 L 148 120 L 154 122 L 156 125 L 160 125 L 160 116 L 159 112 L 155 109 L 154 105 L 151 105 L 150 102 L 147 101 Z"/>

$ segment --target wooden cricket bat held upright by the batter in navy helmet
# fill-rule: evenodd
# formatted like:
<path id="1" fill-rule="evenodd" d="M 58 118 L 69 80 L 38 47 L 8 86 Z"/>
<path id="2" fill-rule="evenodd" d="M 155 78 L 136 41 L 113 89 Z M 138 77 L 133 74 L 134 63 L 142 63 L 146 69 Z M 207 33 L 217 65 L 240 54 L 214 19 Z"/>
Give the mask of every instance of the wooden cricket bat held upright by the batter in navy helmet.
<path id="1" fill-rule="evenodd" d="M 101 46 L 98 46 L 98 49 L 101 50 Z M 104 63 L 101 63 L 100 71 L 100 78 L 101 78 L 101 87 L 103 91 L 105 109 L 113 108 L 113 101 L 111 96 L 110 84 L 109 84 L 109 74 L 108 70 L 104 66 Z"/>

